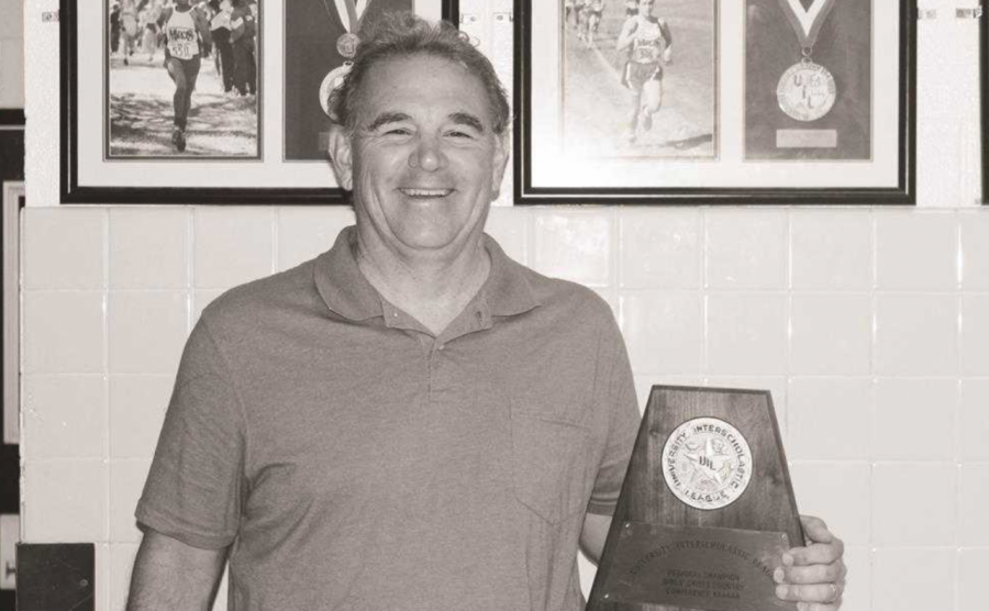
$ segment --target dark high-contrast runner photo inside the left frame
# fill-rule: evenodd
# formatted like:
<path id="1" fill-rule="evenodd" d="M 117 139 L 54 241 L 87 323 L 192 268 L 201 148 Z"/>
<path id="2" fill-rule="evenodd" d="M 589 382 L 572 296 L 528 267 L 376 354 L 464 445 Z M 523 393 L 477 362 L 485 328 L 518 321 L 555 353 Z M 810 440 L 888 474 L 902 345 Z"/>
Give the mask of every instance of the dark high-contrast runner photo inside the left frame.
<path id="1" fill-rule="evenodd" d="M 107 158 L 260 158 L 260 0 L 107 0 Z"/>

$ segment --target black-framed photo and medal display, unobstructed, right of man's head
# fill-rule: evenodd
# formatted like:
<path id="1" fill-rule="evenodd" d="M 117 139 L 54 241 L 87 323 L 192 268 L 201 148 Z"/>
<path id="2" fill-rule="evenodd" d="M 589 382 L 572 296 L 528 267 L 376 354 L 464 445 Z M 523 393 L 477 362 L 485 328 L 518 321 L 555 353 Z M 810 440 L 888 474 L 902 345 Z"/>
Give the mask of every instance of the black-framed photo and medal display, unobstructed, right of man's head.
<path id="1" fill-rule="evenodd" d="M 520 203 L 914 201 L 915 0 L 515 11 Z"/>

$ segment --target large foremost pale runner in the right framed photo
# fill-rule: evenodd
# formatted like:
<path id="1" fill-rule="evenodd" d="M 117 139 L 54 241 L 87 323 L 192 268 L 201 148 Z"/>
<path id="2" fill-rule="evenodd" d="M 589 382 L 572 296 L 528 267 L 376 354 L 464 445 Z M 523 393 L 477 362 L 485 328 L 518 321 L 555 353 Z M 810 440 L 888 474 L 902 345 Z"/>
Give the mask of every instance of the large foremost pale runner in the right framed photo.
<path id="1" fill-rule="evenodd" d="M 653 16 L 655 0 L 638 0 L 638 12 L 622 25 L 615 48 L 627 49 L 622 69 L 622 85 L 632 91 L 632 116 L 624 140 L 637 140 L 640 119 L 642 129 L 653 127 L 653 114 L 663 103 L 663 64 L 673 53 L 673 34 L 665 21 Z"/>

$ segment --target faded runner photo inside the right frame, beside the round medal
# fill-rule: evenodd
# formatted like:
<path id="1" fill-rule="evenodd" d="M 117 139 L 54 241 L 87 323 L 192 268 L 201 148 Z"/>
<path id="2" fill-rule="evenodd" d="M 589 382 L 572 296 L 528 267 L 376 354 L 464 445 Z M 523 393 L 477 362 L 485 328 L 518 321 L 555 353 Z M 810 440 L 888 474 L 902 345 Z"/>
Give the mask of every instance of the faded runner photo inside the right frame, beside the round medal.
<path id="1" fill-rule="evenodd" d="M 597 157 L 716 155 L 714 0 L 563 4 L 567 151 Z"/>

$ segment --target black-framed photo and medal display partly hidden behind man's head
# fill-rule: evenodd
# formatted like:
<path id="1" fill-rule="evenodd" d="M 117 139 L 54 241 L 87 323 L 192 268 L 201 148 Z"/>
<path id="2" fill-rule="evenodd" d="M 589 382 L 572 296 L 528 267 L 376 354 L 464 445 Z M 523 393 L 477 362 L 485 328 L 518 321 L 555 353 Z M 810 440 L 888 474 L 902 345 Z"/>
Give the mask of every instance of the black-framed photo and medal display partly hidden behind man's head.
<path id="1" fill-rule="evenodd" d="M 344 203 L 325 98 L 362 30 L 395 11 L 438 20 L 458 8 L 62 0 L 62 201 Z"/>

